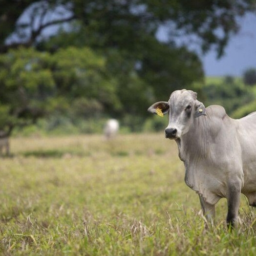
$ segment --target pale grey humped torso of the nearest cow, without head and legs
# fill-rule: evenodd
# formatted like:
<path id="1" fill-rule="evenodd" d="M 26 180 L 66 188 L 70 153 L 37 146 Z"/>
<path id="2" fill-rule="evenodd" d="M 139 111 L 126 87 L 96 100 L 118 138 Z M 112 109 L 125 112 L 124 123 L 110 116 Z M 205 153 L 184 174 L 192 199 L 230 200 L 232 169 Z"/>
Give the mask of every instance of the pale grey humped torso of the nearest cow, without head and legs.
<path id="1" fill-rule="evenodd" d="M 223 107 L 208 107 L 177 144 L 186 184 L 208 203 L 227 197 L 231 182 L 256 203 L 256 113 L 234 120 Z"/>

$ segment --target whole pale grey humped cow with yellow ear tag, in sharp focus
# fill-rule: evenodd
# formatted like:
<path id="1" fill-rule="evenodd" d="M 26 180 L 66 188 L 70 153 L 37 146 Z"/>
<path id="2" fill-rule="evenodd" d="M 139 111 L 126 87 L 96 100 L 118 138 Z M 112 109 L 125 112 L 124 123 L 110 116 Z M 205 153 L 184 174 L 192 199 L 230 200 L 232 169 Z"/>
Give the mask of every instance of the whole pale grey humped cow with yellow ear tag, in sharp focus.
<path id="1" fill-rule="evenodd" d="M 240 194 L 256 207 L 256 112 L 230 118 L 224 107 L 205 107 L 192 90 L 176 90 L 168 102 L 153 104 L 151 113 L 169 115 L 165 136 L 175 140 L 185 166 L 185 183 L 199 194 L 208 222 L 215 204 L 227 198 L 227 224 L 238 220 Z"/>

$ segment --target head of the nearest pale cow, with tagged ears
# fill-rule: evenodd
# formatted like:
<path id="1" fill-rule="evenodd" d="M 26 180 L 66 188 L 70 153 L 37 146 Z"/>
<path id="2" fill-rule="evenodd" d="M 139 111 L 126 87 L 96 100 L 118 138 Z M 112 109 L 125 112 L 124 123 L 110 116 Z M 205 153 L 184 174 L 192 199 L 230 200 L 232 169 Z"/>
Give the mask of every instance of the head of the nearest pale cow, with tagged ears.
<path id="1" fill-rule="evenodd" d="M 179 139 L 189 131 L 194 118 L 206 115 L 204 105 L 196 99 L 196 92 L 191 90 L 176 90 L 171 93 L 168 102 L 156 102 L 148 111 L 163 115 L 169 113 L 169 125 L 165 136 L 169 139 Z"/>

